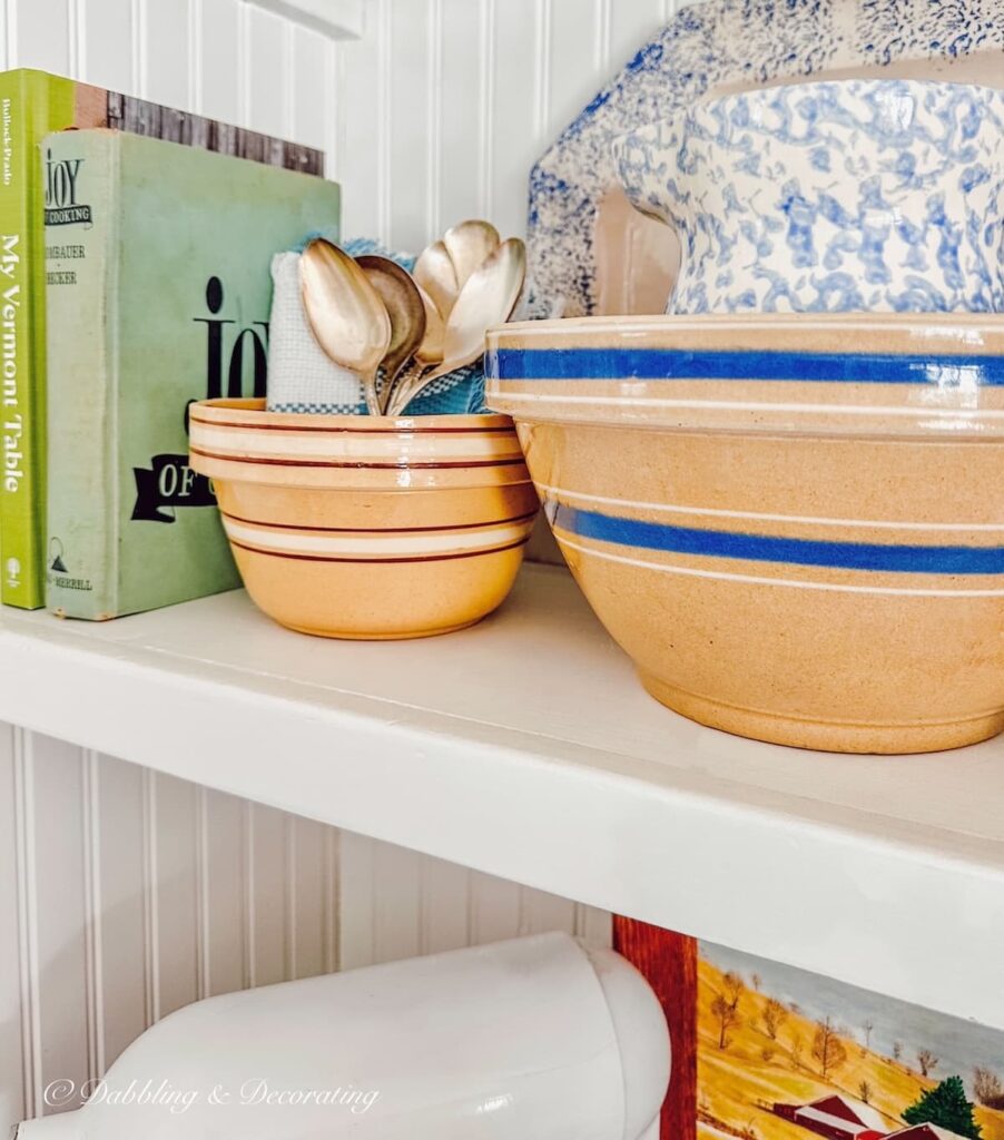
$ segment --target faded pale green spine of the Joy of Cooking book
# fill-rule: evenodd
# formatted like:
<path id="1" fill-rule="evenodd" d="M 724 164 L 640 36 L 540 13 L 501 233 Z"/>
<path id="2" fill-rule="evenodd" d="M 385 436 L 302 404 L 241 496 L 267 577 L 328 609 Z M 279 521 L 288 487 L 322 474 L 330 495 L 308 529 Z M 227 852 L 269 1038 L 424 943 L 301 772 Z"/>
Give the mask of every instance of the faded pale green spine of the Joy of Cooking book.
<path id="1" fill-rule="evenodd" d="M 59 250 L 60 269 L 47 285 L 49 337 L 49 503 L 46 559 L 51 608 L 68 617 L 101 620 L 119 612 L 117 426 L 119 180 L 117 146 L 88 155 L 83 173 L 72 142 L 80 132 L 43 144 L 43 180 L 50 225 L 48 245 Z M 108 140 L 115 136 L 107 136 Z M 66 153 L 64 154 L 64 150 Z M 85 197 L 85 202 L 83 198 Z M 60 211 L 65 213 L 60 213 Z M 74 214 L 74 211 L 85 211 Z M 81 220 L 73 222 L 74 215 Z M 65 219 L 65 220 L 64 220 Z M 58 227 L 58 229 L 57 229 Z M 70 498 L 63 488 L 74 488 Z"/>

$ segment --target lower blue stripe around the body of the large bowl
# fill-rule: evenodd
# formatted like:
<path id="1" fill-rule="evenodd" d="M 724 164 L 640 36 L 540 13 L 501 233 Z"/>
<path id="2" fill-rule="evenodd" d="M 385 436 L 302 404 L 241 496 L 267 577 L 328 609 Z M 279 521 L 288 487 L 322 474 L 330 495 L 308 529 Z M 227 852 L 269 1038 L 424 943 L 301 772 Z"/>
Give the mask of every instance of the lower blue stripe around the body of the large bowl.
<path id="1" fill-rule="evenodd" d="M 621 519 L 554 502 L 548 504 L 547 515 L 553 526 L 581 538 L 671 554 L 890 573 L 1004 573 L 1004 546 L 893 546 L 778 538 Z"/>

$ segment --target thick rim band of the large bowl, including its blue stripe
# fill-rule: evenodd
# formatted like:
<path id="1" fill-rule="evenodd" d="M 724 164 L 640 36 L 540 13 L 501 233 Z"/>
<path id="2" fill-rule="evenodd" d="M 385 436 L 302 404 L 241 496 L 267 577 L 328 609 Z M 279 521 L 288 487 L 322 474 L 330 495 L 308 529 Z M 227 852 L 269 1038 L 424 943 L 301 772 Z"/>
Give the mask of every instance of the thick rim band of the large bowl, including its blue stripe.
<path id="1" fill-rule="evenodd" d="M 601 316 L 489 329 L 517 423 L 1004 438 L 1004 314 Z"/>

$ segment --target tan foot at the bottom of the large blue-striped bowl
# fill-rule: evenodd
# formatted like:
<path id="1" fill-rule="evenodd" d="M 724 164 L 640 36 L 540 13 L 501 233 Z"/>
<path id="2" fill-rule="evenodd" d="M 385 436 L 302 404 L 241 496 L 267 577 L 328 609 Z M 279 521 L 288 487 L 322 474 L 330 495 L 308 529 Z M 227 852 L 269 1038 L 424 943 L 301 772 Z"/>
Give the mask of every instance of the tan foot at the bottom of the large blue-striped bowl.
<path id="1" fill-rule="evenodd" d="M 646 691 L 674 712 L 735 736 L 786 744 L 790 748 L 901 756 L 964 748 L 1004 732 L 1004 711 L 934 724 L 872 725 L 799 719 L 723 705 L 668 685 L 651 674 L 639 671 L 639 676 Z"/>

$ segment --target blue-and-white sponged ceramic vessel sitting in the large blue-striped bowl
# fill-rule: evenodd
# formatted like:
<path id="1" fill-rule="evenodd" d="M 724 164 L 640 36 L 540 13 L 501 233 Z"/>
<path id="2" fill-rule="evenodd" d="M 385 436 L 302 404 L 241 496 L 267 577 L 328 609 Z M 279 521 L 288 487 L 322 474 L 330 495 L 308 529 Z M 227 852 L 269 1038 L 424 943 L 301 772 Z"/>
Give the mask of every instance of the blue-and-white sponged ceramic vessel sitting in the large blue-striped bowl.
<path id="1" fill-rule="evenodd" d="M 769 88 L 613 154 L 631 202 L 680 237 L 667 312 L 1004 312 L 1004 92 Z"/>

